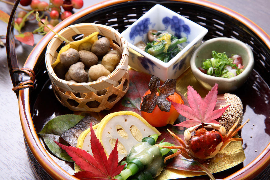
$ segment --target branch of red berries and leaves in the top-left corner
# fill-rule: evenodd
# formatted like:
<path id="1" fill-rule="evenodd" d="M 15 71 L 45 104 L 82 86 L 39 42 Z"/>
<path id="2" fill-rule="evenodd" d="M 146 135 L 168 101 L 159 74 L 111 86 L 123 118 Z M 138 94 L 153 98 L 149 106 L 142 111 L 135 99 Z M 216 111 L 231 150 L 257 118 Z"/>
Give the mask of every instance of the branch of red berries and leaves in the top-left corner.
<path id="1" fill-rule="evenodd" d="M 59 20 L 64 20 L 72 15 L 73 8 L 80 9 L 83 7 L 83 0 L 48 0 L 48 2 L 40 0 L 21 0 L 18 8 L 22 9 L 17 13 L 15 19 L 15 29 L 18 30 L 19 35 L 15 38 L 28 45 L 33 45 L 33 34 L 45 35 L 54 26 L 59 23 Z M 0 0 L 6 4 L 14 5 L 12 2 Z M 22 6 L 29 6 L 31 9 L 24 8 Z M 64 11 L 61 11 L 61 8 Z M 41 14 L 40 21 L 38 22 L 38 28 L 32 32 L 22 33 L 23 27 L 30 21 L 35 19 L 35 13 Z M 7 22 L 9 15 L 3 11 L 0 11 L 0 20 Z"/>

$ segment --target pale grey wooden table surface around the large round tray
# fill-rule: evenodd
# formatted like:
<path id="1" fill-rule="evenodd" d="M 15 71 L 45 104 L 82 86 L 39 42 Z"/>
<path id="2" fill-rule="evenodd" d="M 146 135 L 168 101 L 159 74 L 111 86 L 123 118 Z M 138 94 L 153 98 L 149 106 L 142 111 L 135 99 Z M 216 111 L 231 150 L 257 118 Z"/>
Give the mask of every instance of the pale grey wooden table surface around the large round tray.
<path id="1" fill-rule="evenodd" d="M 49 2 L 49 0 L 43 0 Z M 9 0 L 9 2 L 14 2 Z M 83 8 L 102 2 L 100 0 L 84 0 Z M 270 35 L 270 1 L 268 0 L 211 0 L 211 2 L 230 8 L 260 26 Z M 0 2 L 0 10 L 10 13 L 11 5 Z M 6 35 L 7 25 L 0 22 L 0 35 Z M 31 26 L 26 26 L 31 29 Z M 35 35 L 35 44 L 42 38 Z M 5 39 L 3 40 L 5 43 Z M 16 41 L 16 54 L 19 66 L 22 67 L 34 46 Z M 0 48 L 0 177 L 1 179 L 35 179 L 28 161 L 19 118 L 18 100 L 12 91 L 12 83 L 8 72 L 6 48 Z"/>

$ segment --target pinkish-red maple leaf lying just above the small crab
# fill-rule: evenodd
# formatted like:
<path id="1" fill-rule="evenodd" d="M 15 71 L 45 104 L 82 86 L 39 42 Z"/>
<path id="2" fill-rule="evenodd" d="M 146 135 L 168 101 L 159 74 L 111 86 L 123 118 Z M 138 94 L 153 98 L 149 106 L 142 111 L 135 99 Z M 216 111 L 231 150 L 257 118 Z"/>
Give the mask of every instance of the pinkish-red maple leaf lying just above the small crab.
<path id="1" fill-rule="evenodd" d="M 214 110 L 217 103 L 217 89 L 218 84 L 215 84 L 211 91 L 205 96 L 204 100 L 202 100 L 197 91 L 195 91 L 192 86 L 188 86 L 187 99 L 190 107 L 175 103 L 169 99 L 177 112 L 188 118 L 188 120 L 176 124 L 176 126 L 189 128 L 201 123 L 219 124 L 215 119 L 219 118 L 230 105 Z"/>

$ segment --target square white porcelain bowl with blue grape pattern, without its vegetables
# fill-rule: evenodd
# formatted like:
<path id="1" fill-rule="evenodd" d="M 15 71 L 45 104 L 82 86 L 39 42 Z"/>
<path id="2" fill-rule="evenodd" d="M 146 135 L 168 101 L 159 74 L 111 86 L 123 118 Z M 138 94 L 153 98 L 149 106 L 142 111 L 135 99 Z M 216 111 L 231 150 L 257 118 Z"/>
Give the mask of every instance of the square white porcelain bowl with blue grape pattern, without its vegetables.
<path id="1" fill-rule="evenodd" d="M 184 49 L 165 63 L 134 46 L 140 41 L 147 43 L 147 32 L 152 29 L 170 32 L 178 38 L 186 37 L 187 41 L 181 43 Z M 203 26 L 157 4 L 124 30 L 121 35 L 129 45 L 129 66 L 137 71 L 153 74 L 165 81 L 179 77 L 190 67 L 192 52 L 201 44 L 207 32 L 208 30 Z"/>

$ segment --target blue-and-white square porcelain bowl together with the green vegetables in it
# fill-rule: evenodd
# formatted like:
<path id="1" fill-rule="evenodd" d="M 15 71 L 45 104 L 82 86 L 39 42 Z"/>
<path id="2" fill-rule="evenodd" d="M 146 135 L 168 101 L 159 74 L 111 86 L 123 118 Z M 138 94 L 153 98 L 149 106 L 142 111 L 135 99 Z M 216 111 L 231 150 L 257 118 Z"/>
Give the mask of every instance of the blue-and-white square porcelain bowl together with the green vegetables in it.
<path id="1" fill-rule="evenodd" d="M 190 67 L 191 54 L 207 32 L 203 26 L 157 4 L 121 35 L 129 45 L 129 66 L 165 81 L 176 79 Z M 140 42 L 144 45 L 139 47 Z"/>

